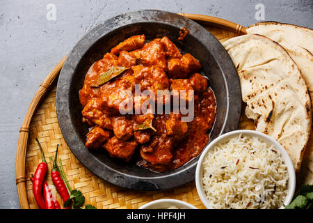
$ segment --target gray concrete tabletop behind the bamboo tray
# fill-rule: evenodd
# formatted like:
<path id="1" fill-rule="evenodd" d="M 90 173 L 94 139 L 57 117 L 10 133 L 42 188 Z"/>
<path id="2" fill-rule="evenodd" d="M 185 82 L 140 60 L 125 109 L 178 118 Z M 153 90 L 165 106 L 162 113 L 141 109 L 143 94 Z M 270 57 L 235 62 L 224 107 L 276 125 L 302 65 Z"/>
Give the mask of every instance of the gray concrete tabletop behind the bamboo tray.
<path id="1" fill-rule="evenodd" d="M 56 20 L 47 19 L 49 3 L 56 6 Z M 109 17 L 139 9 L 211 15 L 248 26 L 259 22 L 255 17 L 257 3 L 264 5 L 264 20 L 313 28 L 312 0 L 1 1 L 0 208 L 20 208 L 15 155 L 19 128 L 31 98 L 49 71 L 88 30 Z"/>

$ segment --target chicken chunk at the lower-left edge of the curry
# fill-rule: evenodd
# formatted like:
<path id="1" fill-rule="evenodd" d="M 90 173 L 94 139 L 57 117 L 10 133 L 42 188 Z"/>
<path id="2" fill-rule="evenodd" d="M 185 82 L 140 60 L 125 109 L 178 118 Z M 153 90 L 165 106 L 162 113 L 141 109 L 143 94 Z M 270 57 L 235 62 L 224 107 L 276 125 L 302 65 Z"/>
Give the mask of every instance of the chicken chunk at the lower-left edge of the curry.
<path id="1" fill-rule="evenodd" d="M 104 142 L 110 138 L 111 132 L 95 126 L 87 134 L 86 147 L 90 150 L 97 150 L 104 145 Z"/>

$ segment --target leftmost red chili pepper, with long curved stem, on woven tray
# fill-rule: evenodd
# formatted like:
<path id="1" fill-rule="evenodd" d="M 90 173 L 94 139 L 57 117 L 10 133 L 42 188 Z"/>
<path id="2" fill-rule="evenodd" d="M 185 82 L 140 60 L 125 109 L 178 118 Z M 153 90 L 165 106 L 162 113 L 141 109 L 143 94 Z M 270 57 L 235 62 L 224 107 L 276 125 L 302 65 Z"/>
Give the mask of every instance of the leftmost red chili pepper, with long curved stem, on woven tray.
<path id="1" fill-rule="evenodd" d="M 36 138 L 36 141 L 38 142 L 41 155 L 42 155 L 42 162 L 38 164 L 37 169 L 35 170 L 35 174 L 33 176 L 33 195 L 35 197 L 35 201 L 38 203 L 39 208 L 45 209 L 45 199 L 42 194 L 42 186 L 45 180 L 45 176 L 47 174 L 48 170 L 48 164 L 45 159 L 45 155 L 42 151 L 42 147 L 40 145 L 39 140 Z"/>

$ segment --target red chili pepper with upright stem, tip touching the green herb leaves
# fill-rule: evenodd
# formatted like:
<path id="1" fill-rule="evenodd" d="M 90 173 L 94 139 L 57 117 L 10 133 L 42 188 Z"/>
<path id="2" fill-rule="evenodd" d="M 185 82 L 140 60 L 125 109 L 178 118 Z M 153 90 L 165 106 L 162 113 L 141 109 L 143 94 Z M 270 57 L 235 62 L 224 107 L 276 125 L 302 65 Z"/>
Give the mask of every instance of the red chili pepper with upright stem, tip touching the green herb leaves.
<path id="1" fill-rule="evenodd" d="M 58 155 L 58 146 L 56 147 L 56 157 Z M 70 194 L 67 192 L 66 185 L 64 181 L 61 178 L 61 174 L 58 171 L 58 166 L 56 164 L 56 157 L 54 157 L 54 166 L 51 170 L 51 178 L 54 182 L 54 185 L 56 186 L 56 190 L 58 190 L 58 193 L 61 195 L 63 202 L 70 199 Z M 67 208 L 70 209 L 70 208 Z"/>

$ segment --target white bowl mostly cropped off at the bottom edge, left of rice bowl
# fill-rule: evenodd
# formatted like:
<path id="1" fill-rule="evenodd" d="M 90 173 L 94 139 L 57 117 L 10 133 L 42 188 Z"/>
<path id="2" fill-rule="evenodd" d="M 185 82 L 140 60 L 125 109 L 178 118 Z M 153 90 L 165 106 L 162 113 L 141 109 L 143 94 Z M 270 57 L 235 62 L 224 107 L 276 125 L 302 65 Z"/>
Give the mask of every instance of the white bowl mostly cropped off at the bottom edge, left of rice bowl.
<path id="1" fill-rule="evenodd" d="M 175 206 L 179 209 L 198 209 L 190 203 L 176 199 L 159 199 L 157 201 L 151 201 L 141 206 L 139 209 L 168 209 L 170 206 Z"/>

